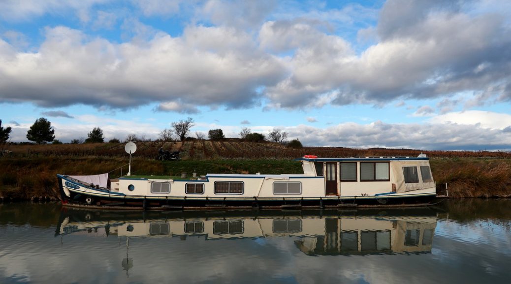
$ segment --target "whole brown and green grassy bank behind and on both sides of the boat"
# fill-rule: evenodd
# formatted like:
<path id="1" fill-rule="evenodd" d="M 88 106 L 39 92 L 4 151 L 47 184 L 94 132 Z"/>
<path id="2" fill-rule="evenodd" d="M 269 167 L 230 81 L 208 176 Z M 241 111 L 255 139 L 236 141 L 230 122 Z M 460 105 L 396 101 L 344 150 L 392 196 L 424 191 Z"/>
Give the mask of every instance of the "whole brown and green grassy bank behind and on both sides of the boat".
<path id="1" fill-rule="evenodd" d="M 111 178 L 128 171 L 126 158 L 115 157 L 4 157 L 0 159 L 0 198 L 58 197 L 56 174 L 98 174 Z M 121 167 L 122 166 L 122 167 Z M 511 196 L 509 158 L 433 158 L 431 170 L 437 185 L 448 183 L 453 198 Z M 132 174 L 180 176 L 206 173 L 301 173 L 300 163 L 278 159 L 219 159 L 159 162 L 137 158 Z"/>

